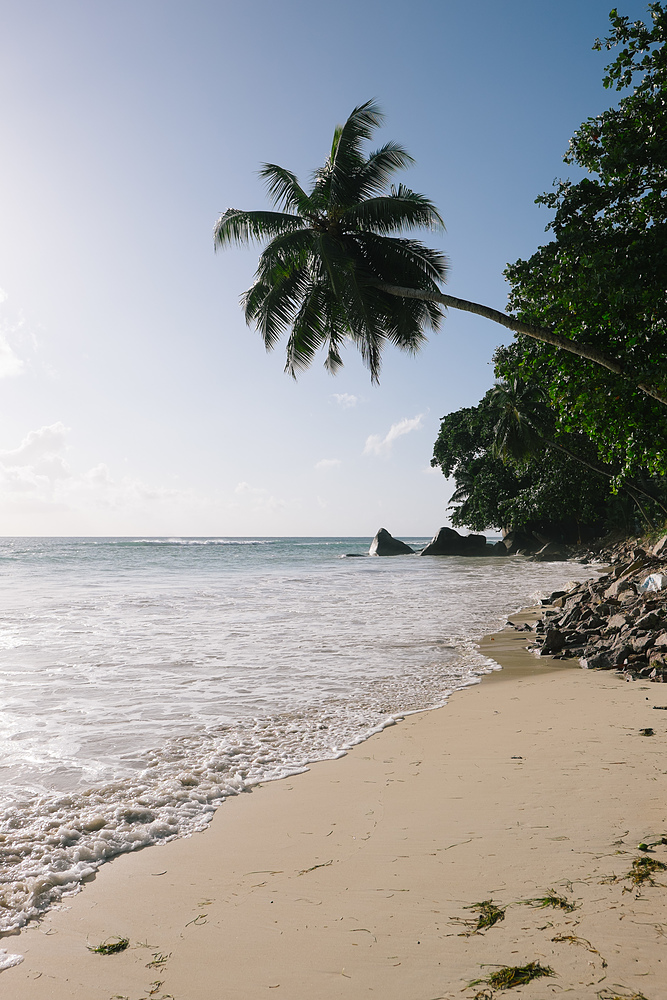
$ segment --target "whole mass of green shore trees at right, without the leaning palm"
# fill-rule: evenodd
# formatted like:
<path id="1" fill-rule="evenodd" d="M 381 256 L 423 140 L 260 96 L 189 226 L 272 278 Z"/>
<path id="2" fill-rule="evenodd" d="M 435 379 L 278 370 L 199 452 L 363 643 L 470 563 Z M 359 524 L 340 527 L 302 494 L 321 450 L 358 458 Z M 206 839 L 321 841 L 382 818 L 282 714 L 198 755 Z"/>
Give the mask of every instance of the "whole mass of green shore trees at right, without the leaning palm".
<path id="1" fill-rule="evenodd" d="M 589 118 L 565 162 L 585 171 L 537 202 L 553 239 L 509 265 L 510 309 L 624 357 L 653 384 L 667 372 L 667 9 L 652 24 L 611 12 L 596 49 L 623 46 L 604 84 L 632 85 Z M 496 388 L 443 418 L 433 465 L 453 475 L 452 521 L 552 532 L 650 529 L 667 513 L 667 416 L 625 378 L 526 338 L 496 352 Z M 497 500 L 495 499 L 497 498 Z"/>

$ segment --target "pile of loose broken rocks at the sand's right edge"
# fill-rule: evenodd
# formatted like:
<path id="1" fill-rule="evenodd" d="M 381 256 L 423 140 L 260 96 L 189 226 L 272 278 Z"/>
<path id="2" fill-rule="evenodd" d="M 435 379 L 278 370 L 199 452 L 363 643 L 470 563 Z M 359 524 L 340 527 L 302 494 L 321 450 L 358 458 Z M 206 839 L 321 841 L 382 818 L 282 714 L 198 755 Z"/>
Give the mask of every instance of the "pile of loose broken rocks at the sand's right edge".
<path id="1" fill-rule="evenodd" d="M 600 577 L 556 591 L 542 602 L 543 618 L 513 627 L 535 633 L 528 649 L 536 655 L 578 659 L 585 669 L 616 670 L 627 680 L 664 682 L 667 535 L 651 547 L 626 540 L 579 557 L 592 560 L 608 564 Z"/>

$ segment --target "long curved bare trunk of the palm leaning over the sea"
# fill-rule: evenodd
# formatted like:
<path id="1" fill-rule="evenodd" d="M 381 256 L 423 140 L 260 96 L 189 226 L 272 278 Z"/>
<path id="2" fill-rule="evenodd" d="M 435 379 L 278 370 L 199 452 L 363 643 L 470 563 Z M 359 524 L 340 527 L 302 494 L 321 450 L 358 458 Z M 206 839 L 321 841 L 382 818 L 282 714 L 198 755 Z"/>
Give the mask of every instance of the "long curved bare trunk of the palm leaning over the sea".
<path id="1" fill-rule="evenodd" d="M 500 312 L 499 309 L 483 306 L 479 302 L 469 302 L 467 299 L 457 299 L 454 295 L 445 295 L 444 292 L 428 292 L 421 288 L 400 288 L 398 285 L 388 285 L 383 282 L 378 282 L 376 287 L 388 295 L 396 295 L 405 299 L 422 299 L 426 302 L 440 302 L 442 305 L 449 306 L 452 309 L 461 309 L 463 312 L 474 313 L 476 316 L 483 316 L 485 319 L 490 319 L 493 323 L 499 323 L 514 333 L 521 333 L 526 337 L 532 337 L 533 340 L 540 340 L 543 344 L 551 344 L 552 347 L 569 351 L 570 354 L 576 354 L 580 358 L 586 358 L 587 361 L 593 361 L 596 365 L 601 365 L 602 368 L 613 372 L 614 375 L 620 375 L 621 378 L 628 379 L 638 389 L 645 392 L 647 396 L 651 396 L 652 399 L 656 399 L 663 406 L 667 406 L 666 393 L 661 392 L 657 386 L 651 385 L 649 382 L 639 381 L 632 372 L 627 371 L 618 361 L 608 358 L 602 351 L 598 351 L 597 348 L 592 347 L 590 344 L 578 344 L 574 340 L 568 340 L 567 337 L 561 337 L 560 334 L 554 333 L 553 330 L 549 330 L 547 327 L 531 326 L 530 323 L 522 323 L 521 320 L 514 319 L 512 316 L 508 316 L 507 313 Z"/>

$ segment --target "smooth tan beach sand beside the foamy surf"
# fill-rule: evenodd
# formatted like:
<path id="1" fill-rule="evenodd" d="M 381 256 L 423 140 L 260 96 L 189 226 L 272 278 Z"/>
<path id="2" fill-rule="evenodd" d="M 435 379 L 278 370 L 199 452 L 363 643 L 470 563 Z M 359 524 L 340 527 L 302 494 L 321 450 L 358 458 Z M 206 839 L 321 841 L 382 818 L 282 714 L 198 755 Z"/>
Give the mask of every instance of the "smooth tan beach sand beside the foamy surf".
<path id="1" fill-rule="evenodd" d="M 540 663 L 524 643 L 486 640 L 508 669 L 445 708 L 105 865 L 2 941 L 25 961 L 0 997 L 449 1000 L 539 961 L 553 979 L 494 995 L 667 1000 L 667 888 L 623 879 L 637 844 L 667 834 L 667 711 L 653 708 L 667 689 Z M 667 863 L 667 847 L 650 856 Z M 577 909 L 522 904 L 549 889 Z M 505 919 L 465 936 L 456 920 L 487 899 Z M 88 950 L 113 936 L 130 947 Z"/>

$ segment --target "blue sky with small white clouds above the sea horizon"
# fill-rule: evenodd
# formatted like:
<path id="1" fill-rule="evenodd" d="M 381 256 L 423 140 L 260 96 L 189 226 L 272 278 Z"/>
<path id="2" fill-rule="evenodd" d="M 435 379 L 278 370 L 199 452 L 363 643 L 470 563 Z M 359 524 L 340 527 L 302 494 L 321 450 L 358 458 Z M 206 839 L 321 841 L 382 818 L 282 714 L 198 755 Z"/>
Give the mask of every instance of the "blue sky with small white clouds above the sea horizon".
<path id="1" fill-rule="evenodd" d="M 646 4 L 619 6 L 632 18 Z M 547 237 L 535 197 L 608 107 L 607 0 L 7 0 L 0 35 L 0 534 L 429 535 L 439 418 L 493 380 L 503 331 L 451 312 L 380 386 L 350 349 L 297 383 L 214 254 L 264 161 L 307 181 L 377 98 L 378 144 L 447 233 L 448 290 L 504 308 Z"/>

